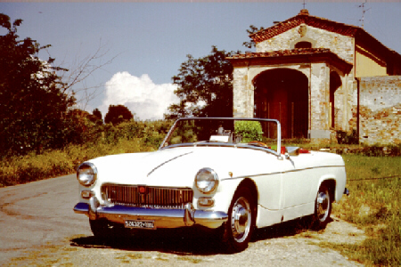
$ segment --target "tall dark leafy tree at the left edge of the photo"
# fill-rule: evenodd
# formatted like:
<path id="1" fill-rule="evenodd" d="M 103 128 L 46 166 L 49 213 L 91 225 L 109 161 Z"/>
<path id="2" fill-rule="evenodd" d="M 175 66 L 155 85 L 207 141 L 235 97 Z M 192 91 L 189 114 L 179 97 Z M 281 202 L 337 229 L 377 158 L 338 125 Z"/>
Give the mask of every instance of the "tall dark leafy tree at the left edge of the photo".
<path id="1" fill-rule="evenodd" d="M 7 30 L 0 36 L 0 155 L 62 147 L 70 124 L 66 111 L 76 101 L 56 74 L 66 69 L 53 67 L 52 58 L 38 58 L 50 45 L 20 40 L 21 23 L 0 13 L 0 26 Z"/>

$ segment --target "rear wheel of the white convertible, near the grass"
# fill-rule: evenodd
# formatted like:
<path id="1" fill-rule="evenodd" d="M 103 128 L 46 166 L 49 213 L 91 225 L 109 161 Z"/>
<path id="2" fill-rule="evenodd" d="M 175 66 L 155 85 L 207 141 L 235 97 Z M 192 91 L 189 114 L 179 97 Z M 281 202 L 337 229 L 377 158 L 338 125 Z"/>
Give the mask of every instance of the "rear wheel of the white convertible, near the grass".
<path id="1" fill-rule="evenodd" d="M 315 200 L 315 214 L 313 228 L 323 229 L 330 222 L 331 215 L 331 194 L 326 185 L 321 185 Z"/>

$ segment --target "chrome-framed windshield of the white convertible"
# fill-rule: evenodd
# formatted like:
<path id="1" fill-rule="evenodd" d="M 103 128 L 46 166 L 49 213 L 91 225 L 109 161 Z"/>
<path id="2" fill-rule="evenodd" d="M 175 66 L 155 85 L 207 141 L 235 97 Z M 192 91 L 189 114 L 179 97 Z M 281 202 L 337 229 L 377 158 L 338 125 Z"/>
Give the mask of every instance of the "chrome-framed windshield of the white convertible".
<path id="1" fill-rule="evenodd" d="M 181 118 L 171 127 L 160 149 L 192 145 L 246 145 L 277 150 L 280 137 L 280 123 L 274 119 Z"/>

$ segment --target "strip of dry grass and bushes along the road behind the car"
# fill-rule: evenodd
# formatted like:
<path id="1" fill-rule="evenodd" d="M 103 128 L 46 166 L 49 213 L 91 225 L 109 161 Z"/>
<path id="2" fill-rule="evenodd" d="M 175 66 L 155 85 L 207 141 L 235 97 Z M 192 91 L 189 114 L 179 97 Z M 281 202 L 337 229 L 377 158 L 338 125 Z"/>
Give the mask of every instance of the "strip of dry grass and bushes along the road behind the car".
<path id="1" fill-rule="evenodd" d="M 157 150 L 168 132 L 168 121 L 137 122 L 86 127 L 82 143 L 62 150 L 30 152 L 4 157 L 0 162 L 0 187 L 74 173 L 80 163 L 111 154 Z"/>

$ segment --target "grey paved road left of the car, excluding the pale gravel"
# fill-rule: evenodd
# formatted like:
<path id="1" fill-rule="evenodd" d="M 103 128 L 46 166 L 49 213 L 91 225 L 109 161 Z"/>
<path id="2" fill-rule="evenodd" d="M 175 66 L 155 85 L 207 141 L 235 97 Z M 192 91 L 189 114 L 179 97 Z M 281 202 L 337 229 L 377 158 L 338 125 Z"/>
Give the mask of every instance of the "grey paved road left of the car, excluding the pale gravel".
<path id="1" fill-rule="evenodd" d="M 86 216 L 72 210 L 77 202 L 75 174 L 0 188 L 1 262 L 72 235 L 91 235 Z"/>

